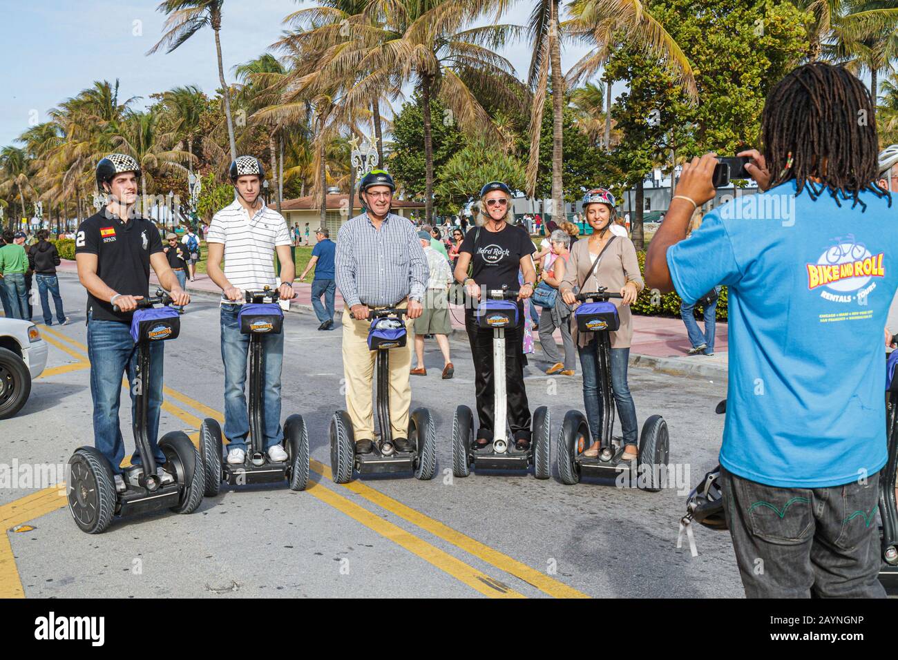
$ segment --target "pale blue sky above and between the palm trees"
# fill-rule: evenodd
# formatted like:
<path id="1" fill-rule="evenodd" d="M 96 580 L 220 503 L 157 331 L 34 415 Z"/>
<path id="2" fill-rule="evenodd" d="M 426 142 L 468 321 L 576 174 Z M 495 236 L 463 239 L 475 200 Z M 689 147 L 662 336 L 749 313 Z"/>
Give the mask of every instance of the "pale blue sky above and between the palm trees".
<path id="1" fill-rule="evenodd" d="M 207 93 L 218 86 L 213 32 L 204 28 L 171 54 L 146 56 L 162 36 L 165 17 L 158 0 L 0 0 L 4 16 L 4 94 L 0 103 L 0 145 L 48 119 L 47 111 L 75 96 L 94 80 L 119 79 L 119 98 L 144 97 L 172 87 L 197 84 Z M 317 3 L 305 0 L 227 0 L 221 31 L 225 77 L 232 67 L 258 57 L 276 41 L 284 17 Z M 522 0 L 504 22 L 525 22 L 529 3 Z M 566 48 L 567 70 L 586 52 Z M 503 53 L 523 76 L 529 63 L 524 43 Z M 618 92 L 615 85 L 615 93 Z"/>

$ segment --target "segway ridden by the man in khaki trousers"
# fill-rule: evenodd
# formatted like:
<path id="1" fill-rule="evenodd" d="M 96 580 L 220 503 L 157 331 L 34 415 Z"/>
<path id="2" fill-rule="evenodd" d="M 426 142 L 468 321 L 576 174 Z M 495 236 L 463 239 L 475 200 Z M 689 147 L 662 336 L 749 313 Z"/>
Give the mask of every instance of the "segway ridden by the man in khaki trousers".
<path id="1" fill-rule="evenodd" d="M 368 348 L 377 351 L 377 423 L 380 436 L 371 453 L 356 452 L 352 421 L 346 410 L 338 410 L 330 420 L 330 471 L 335 483 L 348 483 L 353 472 L 389 474 L 408 472 L 419 480 L 433 479 L 436 472 L 436 426 L 427 408 L 414 409 L 409 415 L 409 443 L 412 449 L 396 448 L 390 426 L 390 350 L 403 348 L 408 331 L 402 316 L 404 309 L 388 307 L 371 312 Z"/>

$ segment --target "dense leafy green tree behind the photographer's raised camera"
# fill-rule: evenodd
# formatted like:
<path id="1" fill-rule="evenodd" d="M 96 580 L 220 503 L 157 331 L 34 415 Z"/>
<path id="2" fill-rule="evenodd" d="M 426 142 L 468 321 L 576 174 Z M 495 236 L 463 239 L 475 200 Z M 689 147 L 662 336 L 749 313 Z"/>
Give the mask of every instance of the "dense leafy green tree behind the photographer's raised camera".
<path id="1" fill-rule="evenodd" d="M 806 54 L 806 15 L 774 0 L 656 0 L 656 19 L 682 44 L 699 92 L 687 91 L 655 57 L 621 40 L 605 84 L 628 80 L 612 115 L 621 129 L 615 152 L 625 182 L 636 185 L 633 239 L 642 246 L 641 182 L 653 166 L 670 171 L 692 155 L 735 154 L 756 145 L 767 92 Z"/>

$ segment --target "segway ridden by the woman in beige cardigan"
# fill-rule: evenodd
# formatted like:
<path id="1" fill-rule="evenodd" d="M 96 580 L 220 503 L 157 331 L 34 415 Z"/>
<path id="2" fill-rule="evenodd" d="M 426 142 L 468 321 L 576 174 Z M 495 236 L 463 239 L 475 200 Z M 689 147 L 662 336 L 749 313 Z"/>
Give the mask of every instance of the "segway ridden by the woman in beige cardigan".
<path id="1" fill-rule="evenodd" d="M 602 441 L 598 456 L 585 456 L 584 452 L 591 444 L 589 424 L 582 412 L 568 410 L 558 437 L 559 478 L 563 483 L 573 485 L 584 475 L 615 480 L 622 476 L 624 480 L 629 478 L 630 484 L 635 480 L 638 488 L 657 492 L 661 489 L 660 471 L 667 465 L 669 453 L 665 419 L 660 415 L 647 418 L 639 436 L 639 453 L 635 461 L 621 460 L 623 438 L 612 436 L 615 407 L 610 333 L 621 327 L 621 319 L 609 299 L 620 297 L 621 294 L 610 293 L 603 286 L 598 291 L 577 295 L 577 300 L 583 303 L 574 312 L 577 330 L 594 332 L 598 338 L 595 360 L 602 390 Z"/>

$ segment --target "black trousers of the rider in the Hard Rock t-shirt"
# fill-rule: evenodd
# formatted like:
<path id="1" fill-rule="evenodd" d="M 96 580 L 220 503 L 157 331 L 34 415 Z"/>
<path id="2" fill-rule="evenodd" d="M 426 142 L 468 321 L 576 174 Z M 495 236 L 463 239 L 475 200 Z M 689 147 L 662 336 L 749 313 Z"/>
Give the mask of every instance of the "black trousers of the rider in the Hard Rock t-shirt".
<path id="1" fill-rule="evenodd" d="M 464 327 L 468 331 L 471 357 L 474 360 L 474 389 L 477 399 L 477 417 L 480 430 L 477 439 L 493 440 L 495 414 L 493 410 L 493 330 L 480 328 L 469 310 L 464 317 Z M 527 391 L 524 389 L 524 329 L 506 328 L 506 400 L 508 428 L 515 440 L 530 440 L 530 408 Z"/>

